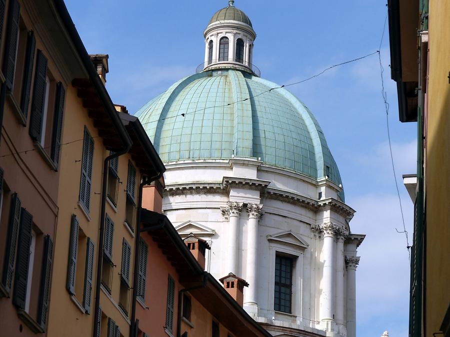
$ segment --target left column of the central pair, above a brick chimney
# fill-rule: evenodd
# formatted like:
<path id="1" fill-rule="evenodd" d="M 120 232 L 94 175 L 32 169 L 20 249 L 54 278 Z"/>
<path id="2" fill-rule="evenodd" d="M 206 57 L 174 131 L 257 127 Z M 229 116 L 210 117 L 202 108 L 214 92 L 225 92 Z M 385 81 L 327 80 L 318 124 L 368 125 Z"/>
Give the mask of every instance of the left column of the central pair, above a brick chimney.
<path id="1" fill-rule="evenodd" d="M 237 275 L 237 247 L 239 242 L 239 215 L 242 211 L 242 203 L 228 202 L 227 207 L 222 208 L 222 215 L 225 219 L 229 219 L 227 244 L 226 244 L 226 261 L 224 261 L 225 273 L 233 273 Z"/>

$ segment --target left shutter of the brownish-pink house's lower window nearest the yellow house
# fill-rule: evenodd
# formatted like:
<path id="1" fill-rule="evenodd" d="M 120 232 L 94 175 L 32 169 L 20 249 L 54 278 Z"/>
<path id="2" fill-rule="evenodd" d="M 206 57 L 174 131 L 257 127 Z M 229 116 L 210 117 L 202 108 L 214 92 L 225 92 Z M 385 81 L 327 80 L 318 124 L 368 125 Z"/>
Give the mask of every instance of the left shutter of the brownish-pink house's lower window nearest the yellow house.
<path id="1" fill-rule="evenodd" d="M 29 246 L 31 245 L 31 227 L 33 217 L 24 208 L 20 214 L 20 230 L 17 243 L 17 262 L 15 265 L 14 292 L 12 303 L 25 309 L 26 286 L 28 282 Z"/>

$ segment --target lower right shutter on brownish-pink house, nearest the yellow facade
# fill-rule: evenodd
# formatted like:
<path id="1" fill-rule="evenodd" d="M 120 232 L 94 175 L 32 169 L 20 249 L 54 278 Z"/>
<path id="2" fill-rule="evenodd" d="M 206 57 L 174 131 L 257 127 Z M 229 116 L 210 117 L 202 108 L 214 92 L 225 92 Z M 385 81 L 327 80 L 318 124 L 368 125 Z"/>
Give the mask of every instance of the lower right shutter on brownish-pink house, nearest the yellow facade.
<path id="1" fill-rule="evenodd" d="M 39 302 L 37 307 L 37 324 L 45 330 L 48 312 L 48 296 L 50 295 L 51 262 L 53 242 L 49 235 L 44 238 L 42 270 L 40 274 Z"/>

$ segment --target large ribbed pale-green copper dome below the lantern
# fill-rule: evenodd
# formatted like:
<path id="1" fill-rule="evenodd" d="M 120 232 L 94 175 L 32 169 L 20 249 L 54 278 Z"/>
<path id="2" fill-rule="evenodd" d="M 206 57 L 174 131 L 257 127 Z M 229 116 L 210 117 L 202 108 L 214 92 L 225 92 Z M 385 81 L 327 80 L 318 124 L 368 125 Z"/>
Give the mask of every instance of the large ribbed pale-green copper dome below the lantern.
<path id="1" fill-rule="evenodd" d="M 273 87 L 278 85 L 238 70 L 203 71 L 179 80 L 136 115 L 164 163 L 260 158 L 341 184 L 312 113 L 283 88 L 258 95 Z"/>

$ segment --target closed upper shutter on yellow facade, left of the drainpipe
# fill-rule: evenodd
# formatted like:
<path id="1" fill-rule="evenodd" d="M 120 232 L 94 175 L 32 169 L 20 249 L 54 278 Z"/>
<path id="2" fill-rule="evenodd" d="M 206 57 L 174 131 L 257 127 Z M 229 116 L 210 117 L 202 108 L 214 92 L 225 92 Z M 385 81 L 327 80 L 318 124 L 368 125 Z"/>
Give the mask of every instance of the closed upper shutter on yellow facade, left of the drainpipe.
<path id="1" fill-rule="evenodd" d="M 92 185 L 92 163 L 94 142 L 89 131 L 84 127 L 83 154 L 81 160 L 81 182 L 79 187 L 79 202 L 89 211 L 90 187 Z"/>

